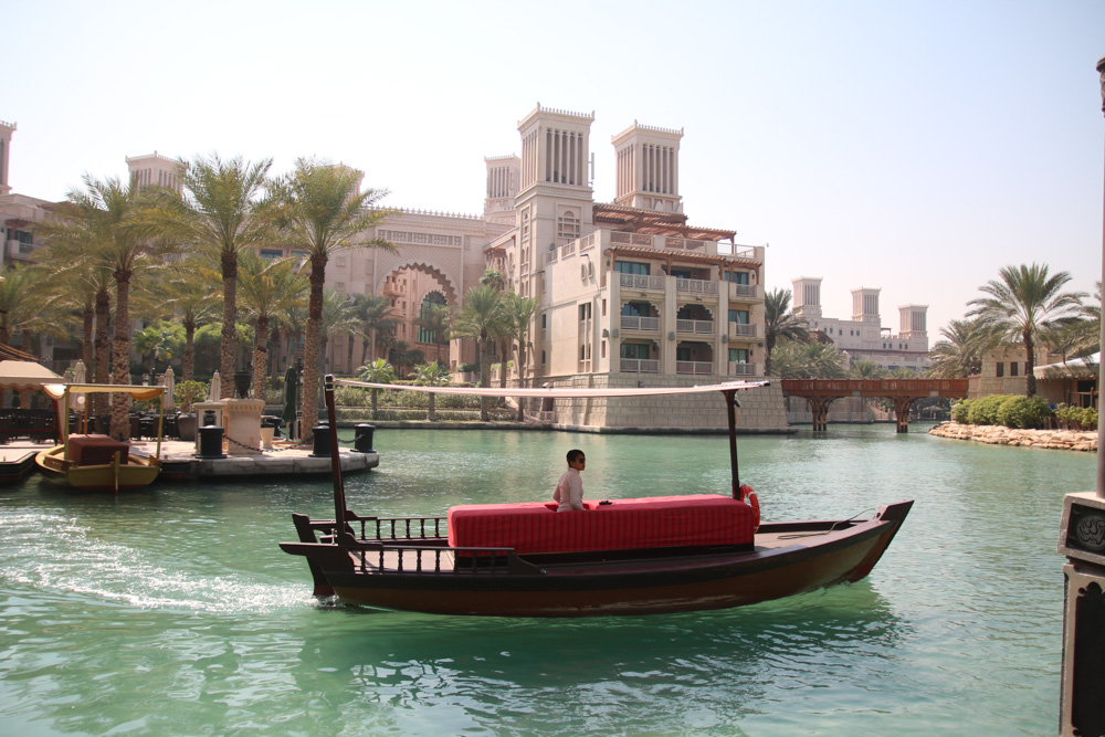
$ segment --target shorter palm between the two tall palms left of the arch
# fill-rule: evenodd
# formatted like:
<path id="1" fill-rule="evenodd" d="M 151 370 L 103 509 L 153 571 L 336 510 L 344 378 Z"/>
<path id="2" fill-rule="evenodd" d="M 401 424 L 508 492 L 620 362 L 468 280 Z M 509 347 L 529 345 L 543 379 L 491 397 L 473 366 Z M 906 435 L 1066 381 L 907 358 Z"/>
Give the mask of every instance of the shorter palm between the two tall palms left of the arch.
<path id="1" fill-rule="evenodd" d="M 295 259 L 262 259 L 253 251 L 238 256 L 238 292 L 242 308 L 253 318 L 253 398 L 264 399 L 269 383 L 270 325 L 280 314 L 307 296 L 307 280 Z"/>

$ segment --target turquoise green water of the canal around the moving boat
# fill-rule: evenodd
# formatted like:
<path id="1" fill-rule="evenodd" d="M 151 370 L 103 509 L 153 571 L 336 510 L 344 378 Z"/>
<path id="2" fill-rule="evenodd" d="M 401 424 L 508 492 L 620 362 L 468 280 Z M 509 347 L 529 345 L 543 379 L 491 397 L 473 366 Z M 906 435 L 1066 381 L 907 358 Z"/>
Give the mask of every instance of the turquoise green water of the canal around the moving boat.
<path id="1" fill-rule="evenodd" d="M 766 519 L 916 504 L 853 586 L 708 613 L 442 618 L 316 602 L 290 515 L 326 483 L 0 488 L 0 734 L 1054 734 L 1063 494 L 1091 454 L 914 425 L 741 438 Z M 722 438 L 378 431 L 361 514 L 725 492 Z"/>

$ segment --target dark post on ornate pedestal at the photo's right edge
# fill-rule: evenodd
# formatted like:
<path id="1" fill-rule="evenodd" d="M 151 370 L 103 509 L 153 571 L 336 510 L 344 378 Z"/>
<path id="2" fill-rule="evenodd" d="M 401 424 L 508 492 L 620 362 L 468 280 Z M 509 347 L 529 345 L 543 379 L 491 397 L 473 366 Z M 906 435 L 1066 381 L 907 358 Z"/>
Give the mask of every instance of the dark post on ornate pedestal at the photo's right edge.
<path id="1" fill-rule="evenodd" d="M 1105 113 L 1105 56 L 1097 61 Z M 1105 212 L 1105 210 L 1103 210 Z M 1105 219 L 1102 221 L 1102 277 L 1105 282 Z M 1105 343 L 1105 329 L 1102 331 Z M 1101 410 L 1102 371 L 1097 368 Z M 1061 735 L 1105 735 L 1105 431 L 1097 423 L 1097 482 L 1093 492 L 1063 498 L 1059 551 L 1063 564 L 1063 670 Z"/>

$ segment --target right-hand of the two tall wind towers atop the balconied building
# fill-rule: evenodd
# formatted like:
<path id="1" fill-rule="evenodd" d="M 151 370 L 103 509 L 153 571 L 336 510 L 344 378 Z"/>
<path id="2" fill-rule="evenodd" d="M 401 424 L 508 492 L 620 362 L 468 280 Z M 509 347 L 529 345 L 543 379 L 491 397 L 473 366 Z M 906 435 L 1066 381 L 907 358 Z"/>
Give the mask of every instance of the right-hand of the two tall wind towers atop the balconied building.
<path id="1" fill-rule="evenodd" d="M 614 204 L 683 212 L 680 196 L 680 140 L 683 128 L 633 125 L 611 138 L 618 162 Z"/>

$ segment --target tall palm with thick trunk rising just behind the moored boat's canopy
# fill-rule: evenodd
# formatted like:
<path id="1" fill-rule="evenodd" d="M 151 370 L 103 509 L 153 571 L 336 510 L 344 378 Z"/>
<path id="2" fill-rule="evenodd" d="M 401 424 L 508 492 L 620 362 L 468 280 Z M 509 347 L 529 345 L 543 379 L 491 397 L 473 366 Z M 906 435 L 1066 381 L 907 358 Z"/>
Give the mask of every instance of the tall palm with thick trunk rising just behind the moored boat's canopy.
<path id="1" fill-rule="evenodd" d="M 85 175 L 84 189 L 69 193 L 67 207 L 59 208 L 54 221 L 44 223 L 48 240 L 59 253 L 69 253 L 74 263 L 91 269 L 109 269 L 115 278 L 115 339 L 112 346 L 114 383 L 130 382 L 130 287 L 137 274 L 164 265 L 172 249 L 162 240 L 151 240 L 156 230 L 139 219 L 146 199 L 137 182 L 124 185 L 117 178 L 104 181 Z M 112 397 L 110 435 L 125 441 L 130 434 L 126 394 Z"/>

